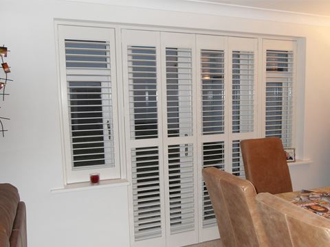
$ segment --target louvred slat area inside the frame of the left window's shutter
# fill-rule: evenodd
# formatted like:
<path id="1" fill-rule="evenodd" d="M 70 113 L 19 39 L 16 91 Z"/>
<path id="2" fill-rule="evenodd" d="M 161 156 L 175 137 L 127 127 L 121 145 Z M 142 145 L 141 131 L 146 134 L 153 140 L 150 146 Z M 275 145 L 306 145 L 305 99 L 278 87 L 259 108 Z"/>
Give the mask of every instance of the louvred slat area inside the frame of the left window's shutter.
<path id="1" fill-rule="evenodd" d="M 115 165 L 109 57 L 109 42 L 65 40 L 72 167 Z"/>

